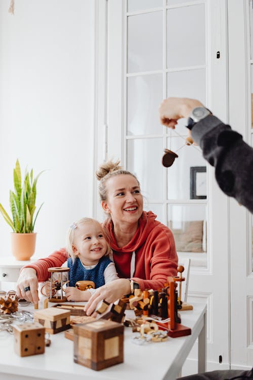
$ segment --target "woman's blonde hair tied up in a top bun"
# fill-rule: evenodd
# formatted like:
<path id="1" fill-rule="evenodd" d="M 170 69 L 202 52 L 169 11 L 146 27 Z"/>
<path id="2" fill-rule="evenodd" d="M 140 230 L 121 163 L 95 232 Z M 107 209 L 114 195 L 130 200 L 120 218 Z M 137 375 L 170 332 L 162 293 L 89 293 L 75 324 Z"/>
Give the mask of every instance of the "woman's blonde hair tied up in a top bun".
<path id="1" fill-rule="evenodd" d="M 116 175 L 119 175 L 119 174 L 132 175 L 132 177 L 134 177 L 137 180 L 139 187 L 141 187 L 140 182 L 138 181 L 137 177 L 133 173 L 129 172 L 128 170 L 123 170 L 122 166 L 120 166 L 119 163 L 120 163 L 119 160 L 116 162 L 107 161 L 104 164 L 100 165 L 100 167 L 96 171 L 96 177 L 99 180 L 98 192 L 99 192 L 101 201 L 106 201 L 106 198 L 107 198 L 106 182 L 108 181 L 108 179 L 110 179 L 111 177 L 115 177 Z"/>

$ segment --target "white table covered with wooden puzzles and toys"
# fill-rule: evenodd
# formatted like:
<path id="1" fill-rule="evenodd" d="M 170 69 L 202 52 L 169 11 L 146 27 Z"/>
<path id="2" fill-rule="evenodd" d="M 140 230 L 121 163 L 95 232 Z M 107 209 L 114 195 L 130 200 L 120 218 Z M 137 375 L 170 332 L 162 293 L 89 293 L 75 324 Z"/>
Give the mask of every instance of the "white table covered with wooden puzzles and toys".
<path id="1" fill-rule="evenodd" d="M 45 354 L 19 357 L 14 352 L 13 336 L 0 332 L 0 379 L 5 380 L 174 380 L 181 371 L 195 340 L 198 338 L 198 371 L 206 365 L 206 305 L 194 303 L 192 311 L 181 312 L 182 323 L 192 334 L 170 338 L 162 343 L 138 346 L 131 343 L 132 329 L 125 327 L 124 363 L 101 371 L 73 362 L 73 342 L 64 332 L 51 335 L 51 346 Z M 25 310 L 25 308 L 23 308 Z M 30 376 L 30 377 L 28 377 Z"/>

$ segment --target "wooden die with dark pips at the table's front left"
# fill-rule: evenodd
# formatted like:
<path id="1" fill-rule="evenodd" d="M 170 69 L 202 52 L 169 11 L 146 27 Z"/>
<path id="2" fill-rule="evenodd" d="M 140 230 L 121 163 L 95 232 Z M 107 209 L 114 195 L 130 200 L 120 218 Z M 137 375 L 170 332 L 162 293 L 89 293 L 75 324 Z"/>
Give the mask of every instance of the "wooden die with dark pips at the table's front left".
<path id="1" fill-rule="evenodd" d="M 19 356 L 44 354 L 45 328 L 39 323 L 23 323 L 13 326 L 14 351 Z"/>

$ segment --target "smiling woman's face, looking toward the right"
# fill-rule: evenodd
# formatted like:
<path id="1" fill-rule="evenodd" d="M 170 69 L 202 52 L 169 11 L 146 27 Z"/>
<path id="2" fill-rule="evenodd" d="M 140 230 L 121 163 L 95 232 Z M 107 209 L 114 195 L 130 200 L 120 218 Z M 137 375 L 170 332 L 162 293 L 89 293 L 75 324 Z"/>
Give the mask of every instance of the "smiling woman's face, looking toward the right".
<path id="1" fill-rule="evenodd" d="M 136 223 L 142 215 L 143 198 L 137 180 L 130 174 L 119 174 L 106 182 L 107 200 L 103 209 L 113 223 Z"/>

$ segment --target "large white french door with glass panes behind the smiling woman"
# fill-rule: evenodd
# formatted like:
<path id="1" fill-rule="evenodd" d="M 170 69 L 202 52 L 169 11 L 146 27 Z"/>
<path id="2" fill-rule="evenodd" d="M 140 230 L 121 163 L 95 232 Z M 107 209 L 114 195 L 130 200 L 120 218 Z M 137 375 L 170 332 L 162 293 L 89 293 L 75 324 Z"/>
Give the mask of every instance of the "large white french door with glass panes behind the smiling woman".
<path id="1" fill-rule="evenodd" d="M 200 99 L 228 121 L 226 2 L 107 0 L 97 5 L 103 20 L 98 43 L 103 35 L 106 47 L 105 56 L 98 52 L 106 69 L 100 87 L 104 101 L 97 109 L 97 162 L 119 158 L 135 172 L 146 209 L 172 228 L 179 257 L 191 258 L 188 301 L 207 302 L 208 369 L 229 368 L 228 199 L 200 149 L 184 146 L 186 121 L 176 131 L 158 122 L 158 105 L 167 96 Z M 179 156 L 168 169 L 161 165 L 165 147 Z M 196 358 L 194 349 L 187 373 L 197 371 Z"/>

